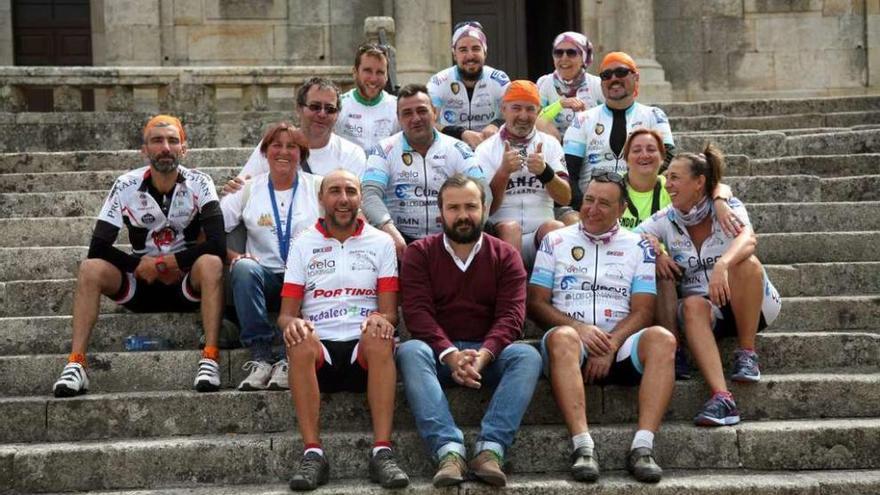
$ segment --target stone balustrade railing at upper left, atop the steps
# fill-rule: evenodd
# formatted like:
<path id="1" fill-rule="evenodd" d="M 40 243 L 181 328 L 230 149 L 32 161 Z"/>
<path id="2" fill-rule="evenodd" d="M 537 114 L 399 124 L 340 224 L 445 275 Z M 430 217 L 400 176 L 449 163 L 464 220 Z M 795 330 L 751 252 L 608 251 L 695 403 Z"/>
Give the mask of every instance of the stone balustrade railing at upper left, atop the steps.
<path id="1" fill-rule="evenodd" d="M 294 91 L 313 76 L 343 89 L 349 66 L 262 67 L 0 67 L 0 112 L 27 111 L 26 90 L 51 89 L 56 112 L 83 110 L 94 91 L 96 111 L 250 112 L 291 108 Z"/>

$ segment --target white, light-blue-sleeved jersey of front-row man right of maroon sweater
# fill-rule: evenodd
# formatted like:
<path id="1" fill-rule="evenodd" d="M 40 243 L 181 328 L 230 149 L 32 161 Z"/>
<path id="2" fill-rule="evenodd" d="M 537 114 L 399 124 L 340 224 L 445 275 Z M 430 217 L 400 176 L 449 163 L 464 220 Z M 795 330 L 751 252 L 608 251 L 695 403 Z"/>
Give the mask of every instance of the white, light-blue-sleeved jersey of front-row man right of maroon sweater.
<path id="1" fill-rule="evenodd" d="M 569 318 L 611 332 L 633 294 L 657 293 L 656 258 L 650 242 L 624 228 L 596 243 L 577 223 L 544 237 L 529 283 L 550 289 L 553 307 Z"/>

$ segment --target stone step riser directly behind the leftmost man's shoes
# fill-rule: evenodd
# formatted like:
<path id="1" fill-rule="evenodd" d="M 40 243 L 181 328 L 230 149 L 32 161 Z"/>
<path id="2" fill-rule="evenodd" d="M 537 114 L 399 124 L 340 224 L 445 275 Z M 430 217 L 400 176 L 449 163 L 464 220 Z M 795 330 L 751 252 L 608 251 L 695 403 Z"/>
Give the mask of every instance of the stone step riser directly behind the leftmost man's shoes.
<path id="1" fill-rule="evenodd" d="M 109 338 L 99 336 L 98 345 L 89 354 L 92 389 L 96 392 L 191 389 L 199 357 L 198 352 L 191 349 L 196 348 L 195 340 L 199 333 L 194 322 L 189 322 L 188 327 L 194 331 L 172 342 L 179 348 L 190 350 L 118 352 L 116 350 L 121 347 L 118 341 L 129 335 L 130 330 Z M 163 336 L 170 340 L 179 332 L 179 329 L 167 329 L 166 323 L 147 335 Z M 530 324 L 525 333 L 527 338 L 532 339 L 528 342 L 538 345 L 538 339 L 543 332 Z M 21 344 L 16 345 L 16 349 L 22 354 L 0 356 L 0 371 L 3 372 L 0 376 L 9 377 L 10 382 L 0 390 L 0 396 L 44 395 L 51 390 L 66 363 L 66 353 L 70 349 L 69 329 L 66 335 L 63 330 L 53 335 L 57 335 L 59 344 L 50 347 L 61 347 L 58 354 L 34 354 L 49 349 L 35 349 L 32 339 L 23 349 Z M 880 337 L 876 333 L 765 332 L 759 335 L 757 350 L 765 371 L 774 373 L 797 373 L 847 366 L 858 369 L 880 366 L 878 338 Z M 20 340 L 26 340 L 26 337 Z M 6 341 L 5 346 L 10 344 Z M 734 348 L 733 339 L 722 341 L 721 352 L 724 356 L 732 355 Z M 101 349 L 110 349 L 111 352 Z M 237 386 L 247 376 L 242 366 L 249 359 L 250 354 L 245 349 L 222 352 L 224 387 Z M 727 362 L 729 359 L 725 358 L 724 361 L 725 366 L 730 366 Z"/>

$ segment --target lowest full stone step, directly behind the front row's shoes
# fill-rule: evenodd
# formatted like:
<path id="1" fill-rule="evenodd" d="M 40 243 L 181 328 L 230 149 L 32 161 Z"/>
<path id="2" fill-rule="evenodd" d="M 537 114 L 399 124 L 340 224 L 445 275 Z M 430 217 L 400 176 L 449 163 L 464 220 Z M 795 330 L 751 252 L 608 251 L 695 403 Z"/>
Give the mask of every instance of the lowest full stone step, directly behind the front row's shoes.
<path id="1" fill-rule="evenodd" d="M 623 468 L 633 427 L 591 429 L 604 469 Z M 564 430 L 521 428 L 506 458 L 512 477 L 567 473 L 570 439 Z M 465 435 L 470 443 L 476 432 L 468 428 Z M 363 476 L 370 434 L 327 432 L 322 437 L 333 478 Z M 394 440 L 410 474 L 433 474 L 433 463 L 414 431 L 398 431 Z M 20 444 L 0 448 L 0 466 L 12 473 L 6 478 L 9 488 L 19 492 L 273 483 L 289 476 L 300 448 L 289 433 Z M 834 470 L 878 469 L 878 448 L 880 419 L 832 419 L 746 422 L 720 429 L 672 422 L 663 425 L 655 452 L 658 463 L 670 470 Z"/>

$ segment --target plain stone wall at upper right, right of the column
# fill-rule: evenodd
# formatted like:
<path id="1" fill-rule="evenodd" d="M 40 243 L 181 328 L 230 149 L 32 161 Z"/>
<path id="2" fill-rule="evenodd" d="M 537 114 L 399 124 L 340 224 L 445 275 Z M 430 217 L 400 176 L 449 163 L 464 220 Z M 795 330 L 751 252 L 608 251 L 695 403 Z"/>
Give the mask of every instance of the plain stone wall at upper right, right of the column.
<path id="1" fill-rule="evenodd" d="M 877 84 L 878 3 L 655 0 L 655 52 L 676 99 L 863 93 Z"/>

